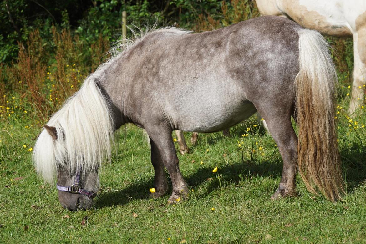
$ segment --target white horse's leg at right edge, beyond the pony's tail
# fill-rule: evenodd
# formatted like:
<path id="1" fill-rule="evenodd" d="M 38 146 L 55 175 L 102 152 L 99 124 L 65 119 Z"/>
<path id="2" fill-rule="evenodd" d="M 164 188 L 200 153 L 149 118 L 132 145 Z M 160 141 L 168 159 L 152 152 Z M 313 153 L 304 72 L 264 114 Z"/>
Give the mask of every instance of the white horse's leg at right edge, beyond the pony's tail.
<path id="1" fill-rule="evenodd" d="M 361 106 L 365 95 L 366 84 L 366 24 L 353 35 L 355 69 L 353 71 L 352 98 L 350 114 Z"/>

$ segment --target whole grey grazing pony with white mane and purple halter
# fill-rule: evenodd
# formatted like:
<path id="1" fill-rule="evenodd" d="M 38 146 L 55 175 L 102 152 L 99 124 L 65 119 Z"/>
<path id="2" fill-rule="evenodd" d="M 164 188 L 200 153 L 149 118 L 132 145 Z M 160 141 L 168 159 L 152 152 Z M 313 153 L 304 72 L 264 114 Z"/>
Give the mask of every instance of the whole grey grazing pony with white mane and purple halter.
<path id="1" fill-rule="evenodd" d="M 110 158 L 111 138 L 125 123 L 144 128 L 151 144 L 157 198 L 188 194 L 173 130 L 216 132 L 259 112 L 283 158 L 272 198 L 295 195 L 299 169 L 310 191 L 335 201 L 343 180 L 334 120 L 337 78 L 317 31 L 276 16 L 204 33 L 150 31 L 89 75 L 41 132 L 33 160 L 48 182 L 57 176 L 61 204 L 87 209 Z M 296 136 L 291 124 L 295 117 Z"/>

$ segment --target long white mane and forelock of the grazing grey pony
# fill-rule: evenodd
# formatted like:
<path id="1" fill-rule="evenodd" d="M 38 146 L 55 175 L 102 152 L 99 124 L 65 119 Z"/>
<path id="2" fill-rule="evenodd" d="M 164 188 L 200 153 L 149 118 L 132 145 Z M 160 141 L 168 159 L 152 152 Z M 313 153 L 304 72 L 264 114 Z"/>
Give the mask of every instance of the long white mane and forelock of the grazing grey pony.
<path id="1" fill-rule="evenodd" d="M 155 28 L 153 28 L 155 29 Z M 33 161 L 38 174 L 46 182 L 52 183 L 57 169 L 62 167 L 70 172 L 81 164 L 84 170 L 100 167 L 106 159 L 111 159 L 113 140 L 113 119 L 110 105 L 102 94 L 98 83 L 106 79 L 105 71 L 116 60 L 132 50 L 140 41 L 151 34 L 181 35 L 190 31 L 175 27 L 156 30 L 132 31 L 134 40 L 116 42 L 109 51 L 111 59 L 101 64 L 84 81 L 81 89 L 70 97 L 48 121 L 48 126 L 57 130 L 54 140 L 44 129 L 34 146 Z"/>

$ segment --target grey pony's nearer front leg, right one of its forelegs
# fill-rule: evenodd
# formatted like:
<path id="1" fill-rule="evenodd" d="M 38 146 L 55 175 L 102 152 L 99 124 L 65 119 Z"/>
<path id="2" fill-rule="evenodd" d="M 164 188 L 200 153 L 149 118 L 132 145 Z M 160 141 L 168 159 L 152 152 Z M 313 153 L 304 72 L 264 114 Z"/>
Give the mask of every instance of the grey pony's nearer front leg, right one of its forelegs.
<path id="1" fill-rule="evenodd" d="M 172 139 L 172 131 L 162 128 L 150 128 L 146 129 L 146 131 L 150 136 L 152 153 L 154 151 L 154 154 L 158 153 L 160 155 L 161 162 L 167 168 L 172 180 L 173 191 L 168 203 L 176 203 L 188 195 L 188 188 L 179 170 L 179 160 Z M 160 176 L 156 175 L 155 177 L 156 179 L 160 179 Z"/>

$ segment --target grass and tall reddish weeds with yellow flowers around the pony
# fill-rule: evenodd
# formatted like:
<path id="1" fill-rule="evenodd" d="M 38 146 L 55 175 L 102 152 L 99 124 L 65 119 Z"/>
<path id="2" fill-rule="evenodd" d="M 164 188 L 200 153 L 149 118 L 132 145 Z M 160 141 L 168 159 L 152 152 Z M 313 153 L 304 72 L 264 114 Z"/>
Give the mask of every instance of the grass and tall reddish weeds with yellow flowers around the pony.
<path id="1" fill-rule="evenodd" d="M 197 29 L 256 16 L 246 3 L 231 1 L 233 10 L 224 6 L 223 23 L 200 16 Z M 105 40 L 90 46 L 94 56 L 80 55 L 88 52 L 80 51 L 77 36 L 53 29 L 52 56 L 42 48 L 39 33 L 32 38 L 15 63 L 0 64 L 0 243 L 366 243 L 366 110 L 360 107 L 354 118 L 347 115 L 350 38 L 328 38 L 338 50 L 332 57 L 341 80 L 335 116 L 347 190 L 343 200 L 331 203 L 310 194 L 299 177 L 297 197 L 270 200 L 282 159 L 270 135 L 251 118 L 231 128 L 231 138 L 200 134 L 196 146 L 188 144 L 189 154 L 178 155 L 191 192 L 176 205 L 167 205 L 171 186 L 160 199 L 150 198 L 150 149 L 141 129 L 123 127 L 112 162 L 101 173 L 103 194 L 93 209 L 78 212 L 63 209 L 55 185 L 37 177 L 32 139 L 100 63 Z"/>

